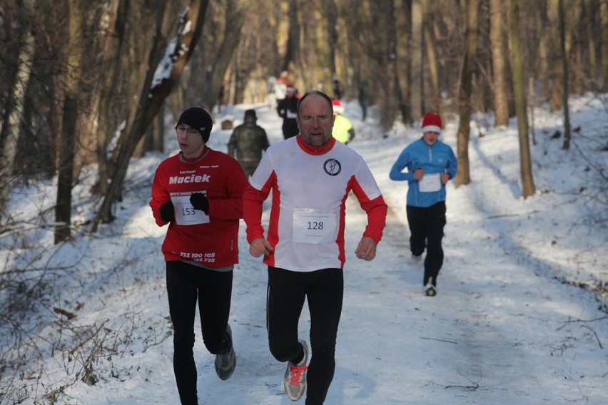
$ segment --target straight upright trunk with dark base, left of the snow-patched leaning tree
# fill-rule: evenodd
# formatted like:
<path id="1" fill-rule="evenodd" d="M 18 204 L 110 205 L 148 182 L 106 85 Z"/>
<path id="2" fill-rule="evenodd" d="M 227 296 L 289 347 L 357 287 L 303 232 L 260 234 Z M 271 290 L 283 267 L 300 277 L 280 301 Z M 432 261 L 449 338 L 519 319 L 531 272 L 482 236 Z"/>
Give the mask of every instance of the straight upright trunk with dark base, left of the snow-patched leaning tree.
<path id="1" fill-rule="evenodd" d="M 69 46 L 66 68 L 66 98 L 64 117 L 58 142 L 57 205 L 55 207 L 55 243 L 71 237 L 72 182 L 76 151 L 76 121 L 78 120 L 78 93 L 82 76 L 84 53 L 82 0 L 69 0 Z"/>

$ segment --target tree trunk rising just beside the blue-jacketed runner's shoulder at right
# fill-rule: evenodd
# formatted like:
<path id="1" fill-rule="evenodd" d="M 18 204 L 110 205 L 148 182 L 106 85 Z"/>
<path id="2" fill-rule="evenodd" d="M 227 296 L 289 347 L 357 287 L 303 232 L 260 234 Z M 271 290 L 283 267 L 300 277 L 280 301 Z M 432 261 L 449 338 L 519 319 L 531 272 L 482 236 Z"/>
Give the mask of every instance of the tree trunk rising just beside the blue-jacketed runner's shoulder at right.
<path id="1" fill-rule="evenodd" d="M 465 52 L 462 55 L 460 69 L 460 89 L 458 91 L 458 124 L 456 155 L 458 170 L 456 172 L 456 187 L 471 183 L 469 170 L 469 135 L 471 121 L 472 70 L 477 49 L 477 16 L 479 0 L 467 0 L 467 34 L 465 35 Z"/>

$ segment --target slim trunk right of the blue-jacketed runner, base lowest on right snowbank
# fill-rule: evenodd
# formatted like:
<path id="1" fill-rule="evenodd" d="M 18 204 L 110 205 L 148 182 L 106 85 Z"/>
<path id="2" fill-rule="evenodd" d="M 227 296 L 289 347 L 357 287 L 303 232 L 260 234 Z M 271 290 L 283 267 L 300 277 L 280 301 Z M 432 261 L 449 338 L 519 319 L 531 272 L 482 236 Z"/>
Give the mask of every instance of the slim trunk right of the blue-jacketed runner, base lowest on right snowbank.
<path id="1" fill-rule="evenodd" d="M 515 93 L 515 110 L 517 112 L 517 132 L 520 135 L 520 170 L 524 198 L 536 193 L 532 178 L 532 159 L 530 158 L 530 140 L 528 139 L 528 121 L 526 113 L 526 95 L 524 85 L 524 68 L 520 47 L 520 1 L 511 0 L 511 64 L 513 66 L 513 93 Z"/>

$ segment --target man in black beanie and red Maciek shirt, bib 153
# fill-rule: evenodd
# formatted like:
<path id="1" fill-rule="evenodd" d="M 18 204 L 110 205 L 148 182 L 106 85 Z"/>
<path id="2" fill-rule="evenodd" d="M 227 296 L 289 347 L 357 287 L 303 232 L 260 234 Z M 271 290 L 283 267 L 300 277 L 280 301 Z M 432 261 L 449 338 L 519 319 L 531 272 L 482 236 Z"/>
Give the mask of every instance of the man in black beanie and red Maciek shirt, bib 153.
<path id="1" fill-rule="evenodd" d="M 176 125 L 181 151 L 156 169 L 150 201 L 156 224 L 169 225 L 163 254 L 181 404 L 198 404 L 197 300 L 203 342 L 216 354 L 216 373 L 228 379 L 236 365 L 228 316 L 247 178 L 234 158 L 206 146 L 212 126 L 202 108 L 183 111 Z"/>

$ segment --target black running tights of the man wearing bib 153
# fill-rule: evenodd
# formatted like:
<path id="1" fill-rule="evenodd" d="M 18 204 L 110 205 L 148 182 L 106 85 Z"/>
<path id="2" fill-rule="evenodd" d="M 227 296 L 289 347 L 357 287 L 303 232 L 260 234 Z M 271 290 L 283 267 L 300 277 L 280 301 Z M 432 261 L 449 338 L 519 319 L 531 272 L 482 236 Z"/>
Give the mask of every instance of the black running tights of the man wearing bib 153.
<path id="1" fill-rule="evenodd" d="M 183 405 L 198 404 L 196 364 L 194 362 L 194 317 L 198 299 L 203 342 L 211 354 L 226 352 L 224 342 L 233 272 L 216 272 L 189 265 L 167 262 L 167 295 L 173 322 L 173 371 Z"/>

